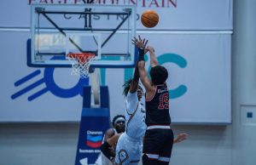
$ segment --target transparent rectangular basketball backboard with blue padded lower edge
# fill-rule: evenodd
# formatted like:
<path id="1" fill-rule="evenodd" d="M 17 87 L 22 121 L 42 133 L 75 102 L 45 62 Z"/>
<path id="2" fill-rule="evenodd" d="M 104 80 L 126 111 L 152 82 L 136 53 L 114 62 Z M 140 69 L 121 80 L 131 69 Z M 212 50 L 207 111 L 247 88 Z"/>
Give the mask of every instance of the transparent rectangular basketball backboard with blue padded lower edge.
<path id="1" fill-rule="evenodd" d="M 135 65 L 136 6 L 108 4 L 32 5 L 27 64 L 70 67 L 68 53 L 93 53 L 93 67 Z"/>

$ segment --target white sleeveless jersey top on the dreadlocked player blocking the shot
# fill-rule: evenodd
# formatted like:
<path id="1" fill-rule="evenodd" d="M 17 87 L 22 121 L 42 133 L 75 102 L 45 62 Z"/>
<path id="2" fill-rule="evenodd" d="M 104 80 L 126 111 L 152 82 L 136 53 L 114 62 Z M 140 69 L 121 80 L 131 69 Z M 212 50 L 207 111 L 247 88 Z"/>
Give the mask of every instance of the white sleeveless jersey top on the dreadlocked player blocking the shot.
<path id="1" fill-rule="evenodd" d="M 146 111 L 143 102 L 138 101 L 137 92 L 127 94 L 125 105 L 125 133 L 131 138 L 141 139 L 147 128 L 145 124 Z"/>

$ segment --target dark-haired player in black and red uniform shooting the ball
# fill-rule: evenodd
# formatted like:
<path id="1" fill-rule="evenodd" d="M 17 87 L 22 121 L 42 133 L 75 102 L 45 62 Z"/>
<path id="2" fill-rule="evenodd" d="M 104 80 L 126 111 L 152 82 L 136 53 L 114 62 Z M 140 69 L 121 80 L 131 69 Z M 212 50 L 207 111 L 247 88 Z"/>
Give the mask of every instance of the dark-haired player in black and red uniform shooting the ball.
<path id="1" fill-rule="evenodd" d="M 133 40 L 138 45 L 141 37 Z M 144 53 L 150 54 L 151 80 L 145 70 Z M 146 88 L 146 125 L 143 142 L 143 165 L 167 165 L 170 162 L 173 145 L 173 132 L 170 127 L 169 90 L 166 85 L 168 71 L 159 65 L 154 48 L 148 46 L 146 50 L 139 48 L 138 68 L 140 79 Z"/>

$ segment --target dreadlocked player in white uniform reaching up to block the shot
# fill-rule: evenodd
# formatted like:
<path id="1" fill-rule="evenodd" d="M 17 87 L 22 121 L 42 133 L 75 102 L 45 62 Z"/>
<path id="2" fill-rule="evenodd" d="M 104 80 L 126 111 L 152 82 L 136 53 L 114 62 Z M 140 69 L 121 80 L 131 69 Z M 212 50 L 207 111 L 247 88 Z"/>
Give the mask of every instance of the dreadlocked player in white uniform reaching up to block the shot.
<path id="1" fill-rule="evenodd" d="M 148 41 L 143 40 L 137 47 L 145 48 Z M 145 52 L 143 52 L 145 53 Z M 145 134 L 145 109 L 143 106 L 143 88 L 139 83 L 139 72 L 136 66 L 133 78 L 124 84 L 125 94 L 125 133 L 121 134 L 116 146 L 115 164 L 137 164 L 142 151 L 142 139 Z"/>

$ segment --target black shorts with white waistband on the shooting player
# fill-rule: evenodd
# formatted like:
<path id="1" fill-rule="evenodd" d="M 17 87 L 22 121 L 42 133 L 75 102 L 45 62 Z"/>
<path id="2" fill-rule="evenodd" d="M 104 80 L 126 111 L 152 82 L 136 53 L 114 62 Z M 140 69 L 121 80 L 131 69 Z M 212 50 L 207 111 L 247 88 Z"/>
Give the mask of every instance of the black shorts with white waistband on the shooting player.
<path id="1" fill-rule="evenodd" d="M 172 155 L 172 129 L 154 128 L 146 131 L 143 142 L 143 155 L 158 162 L 170 162 Z"/>

